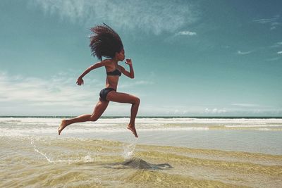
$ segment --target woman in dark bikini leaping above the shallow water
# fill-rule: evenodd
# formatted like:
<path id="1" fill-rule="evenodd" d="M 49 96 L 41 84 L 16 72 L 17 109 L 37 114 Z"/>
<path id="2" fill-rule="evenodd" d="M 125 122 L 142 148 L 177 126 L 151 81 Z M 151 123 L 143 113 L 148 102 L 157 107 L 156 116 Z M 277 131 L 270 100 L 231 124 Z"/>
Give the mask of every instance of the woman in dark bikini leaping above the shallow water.
<path id="1" fill-rule="evenodd" d="M 135 118 L 140 104 L 140 99 L 131 94 L 116 92 L 118 87 L 118 78 L 121 76 L 121 73 L 130 78 L 134 78 L 132 61 L 130 59 L 126 59 L 125 62 L 129 65 L 130 72 L 125 70 L 125 68 L 121 65 L 118 65 L 118 61 L 123 61 L 125 59 L 125 53 L 121 38 L 113 29 L 111 29 L 111 27 L 106 24 L 97 25 L 92 27 L 91 31 L 94 33 L 90 36 L 90 48 L 92 50 L 92 55 L 97 56 L 100 61 L 91 65 L 90 68 L 87 68 L 85 72 L 78 77 L 76 83 L 78 85 L 84 84 L 82 77 L 87 75 L 87 73 L 91 70 L 104 66 L 106 68 L 106 88 L 101 90 L 99 101 L 95 106 L 93 113 L 62 120 L 61 125 L 58 128 L 59 135 L 66 126 L 73 123 L 98 120 L 102 113 L 106 110 L 109 101 L 114 101 L 118 103 L 132 104 L 128 130 L 131 130 L 135 137 L 138 137 L 135 130 Z M 107 59 L 102 60 L 102 56 Z"/>

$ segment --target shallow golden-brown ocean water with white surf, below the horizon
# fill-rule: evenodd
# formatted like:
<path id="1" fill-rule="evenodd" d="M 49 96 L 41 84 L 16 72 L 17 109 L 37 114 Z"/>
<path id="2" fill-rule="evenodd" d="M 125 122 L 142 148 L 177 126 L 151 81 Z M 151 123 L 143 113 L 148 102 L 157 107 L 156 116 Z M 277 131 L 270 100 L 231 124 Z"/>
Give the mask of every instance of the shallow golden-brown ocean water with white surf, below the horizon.
<path id="1" fill-rule="evenodd" d="M 282 187 L 282 118 L 0 117 L 0 187 Z"/>

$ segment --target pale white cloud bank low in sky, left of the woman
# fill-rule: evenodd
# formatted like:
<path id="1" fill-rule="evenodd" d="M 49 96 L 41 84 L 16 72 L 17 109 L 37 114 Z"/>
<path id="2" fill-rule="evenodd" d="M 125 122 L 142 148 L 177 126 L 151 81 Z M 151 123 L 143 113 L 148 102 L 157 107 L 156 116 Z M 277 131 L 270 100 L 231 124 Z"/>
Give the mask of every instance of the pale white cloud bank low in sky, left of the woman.
<path id="1" fill-rule="evenodd" d="M 60 106 L 69 106 L 76 108 L 89 105 L 90 101 L 93 103 L 93 96 L 98 96 L 102 85 L 96 83 L 97 88 L 93 88 L 90 84 L 79 87 L 75 82 L 75 79 L 64 77 L 63 74 L 42 79 L 0 73 L 1 107 L 4 108 L 4 104 L 10 106 L 13 103 L 29 107 L 53 106 L 60 108 Z M 14 107 L 16 108 L 16 106 Z"/>

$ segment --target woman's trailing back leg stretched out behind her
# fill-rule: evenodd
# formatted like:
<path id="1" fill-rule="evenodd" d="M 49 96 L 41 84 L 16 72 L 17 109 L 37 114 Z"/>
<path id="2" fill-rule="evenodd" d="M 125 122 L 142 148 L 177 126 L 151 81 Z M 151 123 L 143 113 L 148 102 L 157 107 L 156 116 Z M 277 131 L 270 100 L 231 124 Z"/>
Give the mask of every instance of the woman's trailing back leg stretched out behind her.
<path id="1" fill-rule="evenodd" d="M 61 131 L 68 125 L 71 125 L 73 123 L 79 123 L 79 122 L 85 122 L 85 121 L 96 121 L 100 118 L 102 113 L 106 110 L 106 107 L 108 106 L 109 101 L 102 101 L 99 100 L 94 108 L 93 113 L 90 114 L 83 114 L 76 118 L 68 119 L 68 120 L 62 120 L 61 125 L 58 128 L 59 135 L 61 134 Z"/>

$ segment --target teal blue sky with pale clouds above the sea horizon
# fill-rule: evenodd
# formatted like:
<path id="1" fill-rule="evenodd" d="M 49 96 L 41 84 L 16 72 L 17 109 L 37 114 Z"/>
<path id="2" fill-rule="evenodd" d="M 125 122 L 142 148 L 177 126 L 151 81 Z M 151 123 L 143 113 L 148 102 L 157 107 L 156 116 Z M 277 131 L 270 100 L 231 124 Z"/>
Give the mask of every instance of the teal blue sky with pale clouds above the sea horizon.
<path id="1" fill-rule="evenodd" d="M 282 116 L 282 1 L 1 0 L 0 115 L 92 113 L 104 68 L 90 28 L 120 35 L 139 116 Z M 127 70 L 128 65 L 120 62 Z M 103 115 L 130 115 L 110 103 Z"/>

